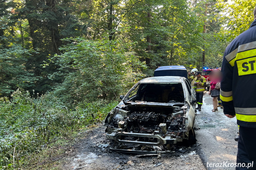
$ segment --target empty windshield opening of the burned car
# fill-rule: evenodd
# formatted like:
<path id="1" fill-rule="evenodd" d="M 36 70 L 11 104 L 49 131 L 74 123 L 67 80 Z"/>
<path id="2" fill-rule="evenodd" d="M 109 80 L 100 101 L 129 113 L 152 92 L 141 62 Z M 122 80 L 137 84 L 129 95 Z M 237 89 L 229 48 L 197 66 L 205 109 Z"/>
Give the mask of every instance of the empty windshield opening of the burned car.
<path id="1" fill-rule="evenodd" d="M 184 102 L 184 92 L 181 83 L 142 83 L 139 88 L 136 88 L 136 90 L 136 92 L 132 91 L 133 93 L 130 93 L 129 96 L 134 96 L 136 94 L 136 97 L 129 98 L 130 101 L 147 101 L 158 103 Z"/>

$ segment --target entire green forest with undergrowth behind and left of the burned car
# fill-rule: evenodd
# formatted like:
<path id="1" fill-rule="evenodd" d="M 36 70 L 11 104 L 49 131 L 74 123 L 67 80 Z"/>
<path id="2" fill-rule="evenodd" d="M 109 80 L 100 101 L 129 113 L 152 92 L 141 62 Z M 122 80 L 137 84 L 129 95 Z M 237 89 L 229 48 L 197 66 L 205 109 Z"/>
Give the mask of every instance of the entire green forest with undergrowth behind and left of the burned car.
<path id="1" fill-rule="evenodd" d="M 106 114 L 159 66 L 221 67 L 256 0 L 1 0 L 0 169 Z M 49 156 L 49 155 L 48 155 Z"/>

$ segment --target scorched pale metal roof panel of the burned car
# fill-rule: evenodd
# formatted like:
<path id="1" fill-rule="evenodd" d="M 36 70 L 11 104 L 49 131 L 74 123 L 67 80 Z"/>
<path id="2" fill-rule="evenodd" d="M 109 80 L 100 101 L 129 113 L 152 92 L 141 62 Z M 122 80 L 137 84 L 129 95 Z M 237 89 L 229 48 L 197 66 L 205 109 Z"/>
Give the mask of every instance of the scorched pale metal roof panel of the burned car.
<path id="1" fill-rule="evenodd" d="M 139 83 L 167 83 L 167 82 L 182 82 L 182 78 L 179 76 L 160 76 L 160 77 L 148 77 L 139 81 Z"/>

